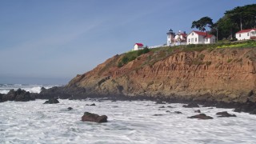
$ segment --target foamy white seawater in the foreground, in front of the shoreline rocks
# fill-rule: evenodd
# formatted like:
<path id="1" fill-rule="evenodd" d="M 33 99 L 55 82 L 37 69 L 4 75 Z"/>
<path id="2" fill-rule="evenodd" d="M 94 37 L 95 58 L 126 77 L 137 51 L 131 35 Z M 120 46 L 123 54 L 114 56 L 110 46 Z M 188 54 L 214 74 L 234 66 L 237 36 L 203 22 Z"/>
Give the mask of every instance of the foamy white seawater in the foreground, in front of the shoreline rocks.
<path id="1" fill-rule="evenodd" d="M 180 103 L 162 105 L 151 101 L 59 101 L 52 105 L 42 104 L 45 100 L 0 103 L 0 143 L 256 142 L 256 115 L 234 113 L 232 109 L 183 108 Z M 92 103 L 96 106 L 86 106 Z M 74 109 L 67 110 L 68 107 Z M 194 113 L 198 109 L 214 119 L 187 118 L 198 114 Z M 237 117 L 218 118 L 216 113 L 224 110 Z M 82 122 L 86 111 L 106 114 L 108 122 Z"/>

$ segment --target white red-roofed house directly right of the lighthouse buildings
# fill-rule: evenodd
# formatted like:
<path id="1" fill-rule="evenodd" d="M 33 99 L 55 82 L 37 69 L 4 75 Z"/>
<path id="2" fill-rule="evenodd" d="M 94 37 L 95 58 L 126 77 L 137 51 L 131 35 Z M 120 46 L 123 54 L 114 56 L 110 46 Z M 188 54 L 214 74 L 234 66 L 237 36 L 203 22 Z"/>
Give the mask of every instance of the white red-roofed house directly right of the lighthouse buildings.
<path id="1" fill-rule="evenodd" d="M 216 37 L 212 34 L 207 34 L 206 32 L 202 31 L 195 31 L 193 30 L 190 34 L 186 37 L 187 44 L 208 44 L 214 43 Z"/>

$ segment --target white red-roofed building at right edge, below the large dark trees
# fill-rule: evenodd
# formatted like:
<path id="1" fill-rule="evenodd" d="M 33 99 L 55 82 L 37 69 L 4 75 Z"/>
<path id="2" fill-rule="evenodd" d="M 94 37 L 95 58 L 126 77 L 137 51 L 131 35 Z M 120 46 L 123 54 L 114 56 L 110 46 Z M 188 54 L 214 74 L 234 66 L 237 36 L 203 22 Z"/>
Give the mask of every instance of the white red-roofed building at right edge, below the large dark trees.
<path id="1" fill-rule="evenodd" d="M 240 30 L 235 34 L 238 40 L 256 39 L 256 29 Z"/>

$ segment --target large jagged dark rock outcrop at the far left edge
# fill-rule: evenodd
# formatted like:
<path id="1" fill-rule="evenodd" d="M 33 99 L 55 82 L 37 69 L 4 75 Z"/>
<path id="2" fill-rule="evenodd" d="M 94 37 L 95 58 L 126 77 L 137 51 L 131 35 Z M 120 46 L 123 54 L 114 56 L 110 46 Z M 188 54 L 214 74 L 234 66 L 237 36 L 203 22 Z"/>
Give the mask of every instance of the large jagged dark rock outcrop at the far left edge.
<path id="1" fill-rule="evenodd" d="M 18 101 L 18 102 L 27 102 L 34 100 L 35 98 L 30 95 L 30 92 L 22 89 L 10 90 L 8 94 L 3 94 L 0 98 L 0 102 L 5 101 Z"/>

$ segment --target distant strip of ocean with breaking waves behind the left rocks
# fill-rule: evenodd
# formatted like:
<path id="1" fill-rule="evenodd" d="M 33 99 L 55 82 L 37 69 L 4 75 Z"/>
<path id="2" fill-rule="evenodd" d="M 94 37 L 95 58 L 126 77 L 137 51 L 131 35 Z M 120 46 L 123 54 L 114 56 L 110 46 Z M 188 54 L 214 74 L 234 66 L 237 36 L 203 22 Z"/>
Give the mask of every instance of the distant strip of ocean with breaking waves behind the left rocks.
<path id="1" fill-rule="evenodd" d="M 0 84 L 0 94 L 7 94 L 10 90 L 18 90 L 19 88 L 30 93 L 40 93 L 42 87 L 50 89 L 53 86 L 58 85 Z"/>

